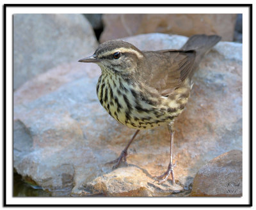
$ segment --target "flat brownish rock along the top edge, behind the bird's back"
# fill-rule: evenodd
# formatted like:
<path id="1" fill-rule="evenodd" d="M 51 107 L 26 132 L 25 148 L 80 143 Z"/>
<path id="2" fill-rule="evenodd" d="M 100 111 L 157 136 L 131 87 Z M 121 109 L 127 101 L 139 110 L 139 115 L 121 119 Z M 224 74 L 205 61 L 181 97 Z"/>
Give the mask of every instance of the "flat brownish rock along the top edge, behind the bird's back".
<path id="1" fill-rule="evenodd" d="M 104 14 L 100 42 L 145 33 L 218 34 L 232 41 L 236 14 Z"/>

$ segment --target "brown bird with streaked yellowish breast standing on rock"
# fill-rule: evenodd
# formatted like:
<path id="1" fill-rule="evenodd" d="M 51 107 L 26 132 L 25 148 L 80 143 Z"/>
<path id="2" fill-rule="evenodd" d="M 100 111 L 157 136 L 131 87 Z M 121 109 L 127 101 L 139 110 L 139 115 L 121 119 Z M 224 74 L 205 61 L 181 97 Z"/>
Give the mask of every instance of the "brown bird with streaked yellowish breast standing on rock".
<path id="1" fill-rule="evenodd" d="M 116 121 L 137 129 L 120 156 L 110 163 L 126 163 L 127 149 L 138 131 L 167 124 L 170 131 L 170 163 L 163 183 L 172 174 L 173 122 L 188 102 L 191 78 L 220 36 L 194 35 L 180 50 L 141 51 L 131 43 L 112 40 L 99 45 L 93 56 L 79 60 L 97 63 L 102 75 L 97 83 L 101 105 Z M 126 163 L 127 164 L 127 163 Z"/>

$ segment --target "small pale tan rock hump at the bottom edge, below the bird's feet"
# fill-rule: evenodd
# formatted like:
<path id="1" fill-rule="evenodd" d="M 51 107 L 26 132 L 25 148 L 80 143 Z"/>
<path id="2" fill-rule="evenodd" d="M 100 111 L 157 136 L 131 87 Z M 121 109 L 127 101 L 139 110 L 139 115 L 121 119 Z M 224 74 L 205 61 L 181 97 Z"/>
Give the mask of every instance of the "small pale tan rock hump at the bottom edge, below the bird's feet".
<path id="1" fill-rule="evenodd" d="M 85 188 L 92 191 L 93 195 L 113 197 L 163 197 L 183 190 L 178 184 L 173 186 L 168 182 L 152 182 L 150 174 L 145 176 L 145 170 L 136 165 L 99 176 L 86 184 Z"/>

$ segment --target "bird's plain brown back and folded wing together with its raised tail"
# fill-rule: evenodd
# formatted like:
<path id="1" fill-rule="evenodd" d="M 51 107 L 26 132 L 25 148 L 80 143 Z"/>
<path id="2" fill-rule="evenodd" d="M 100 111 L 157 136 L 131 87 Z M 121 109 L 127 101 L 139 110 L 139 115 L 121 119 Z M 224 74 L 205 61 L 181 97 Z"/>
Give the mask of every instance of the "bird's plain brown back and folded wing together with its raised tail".
<path id="1" fill-rule="evenodd" d="M 180 50 L 145 51 L 147 71 L 141 79 L 147 86 L 156 88 L 161 95 L 191 79 L 207 51 L 220 41 L 220 36 L 195 35 Z M 187 82 L 188 83 L 188 82 Z"/>

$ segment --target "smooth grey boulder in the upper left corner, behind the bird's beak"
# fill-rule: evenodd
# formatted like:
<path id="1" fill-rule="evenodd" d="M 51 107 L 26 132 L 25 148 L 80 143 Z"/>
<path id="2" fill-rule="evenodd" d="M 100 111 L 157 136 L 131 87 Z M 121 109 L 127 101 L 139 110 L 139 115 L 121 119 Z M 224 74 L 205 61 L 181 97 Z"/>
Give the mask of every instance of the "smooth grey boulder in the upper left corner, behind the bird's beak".
<path id="1" fill-rule="evenodd" d="M 13 87 L 97 47 L 92 26 L 79 14 L 13 15 Z"/>

